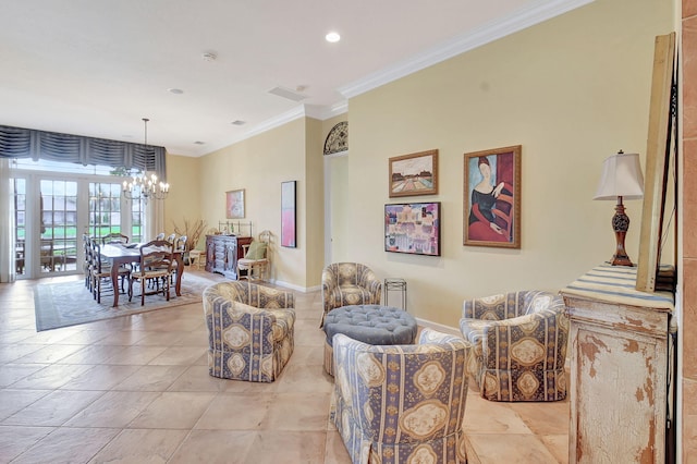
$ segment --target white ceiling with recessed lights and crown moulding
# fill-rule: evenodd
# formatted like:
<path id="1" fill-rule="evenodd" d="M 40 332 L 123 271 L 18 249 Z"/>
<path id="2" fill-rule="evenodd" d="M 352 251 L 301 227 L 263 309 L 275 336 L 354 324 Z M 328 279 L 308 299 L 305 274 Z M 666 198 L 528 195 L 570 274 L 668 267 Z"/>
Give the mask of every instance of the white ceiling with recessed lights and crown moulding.
<path id="1" fill-rule="evenodd" d="M 4 0 L 0 124 L 200 156 L 589 1 Z"/>

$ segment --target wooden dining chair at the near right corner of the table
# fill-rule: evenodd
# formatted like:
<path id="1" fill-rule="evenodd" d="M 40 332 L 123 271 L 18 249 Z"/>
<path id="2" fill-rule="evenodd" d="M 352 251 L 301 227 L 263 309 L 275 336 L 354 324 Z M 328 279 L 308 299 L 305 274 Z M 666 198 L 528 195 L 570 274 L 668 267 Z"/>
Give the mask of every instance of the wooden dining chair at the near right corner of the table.
<path id="1" fill-rule="evenodd" d="M 160 293 L 170 301 L 170 281 L 174 267 L 172 244 L 166 240 L 154 240 L 140 246 L 138 269 L 131 272 L 129 280 L 129 301 L 133 298 L 133 282 L 140 284 L 140 305 L 145 305 L 145 295 Z M 154 291 L 147 291 L 148 282 L 152 282 Z"/>

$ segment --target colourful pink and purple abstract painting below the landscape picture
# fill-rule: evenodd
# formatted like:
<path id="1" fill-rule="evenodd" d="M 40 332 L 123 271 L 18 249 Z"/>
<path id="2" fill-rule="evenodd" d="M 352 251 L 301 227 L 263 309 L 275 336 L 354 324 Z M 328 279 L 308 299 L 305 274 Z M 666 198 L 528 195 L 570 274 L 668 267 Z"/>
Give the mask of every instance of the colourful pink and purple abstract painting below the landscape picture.
<path id="1" fill-rule="evenodd" d="M 440 202 L 384 205 L 384 251 L 440 256 Z"/>

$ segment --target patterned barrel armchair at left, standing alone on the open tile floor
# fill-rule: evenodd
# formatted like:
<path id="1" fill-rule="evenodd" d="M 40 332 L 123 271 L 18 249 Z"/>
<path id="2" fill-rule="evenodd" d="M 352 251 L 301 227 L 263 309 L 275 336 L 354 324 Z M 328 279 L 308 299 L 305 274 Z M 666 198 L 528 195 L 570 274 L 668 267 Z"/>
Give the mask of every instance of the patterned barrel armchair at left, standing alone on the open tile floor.
<path id="1" fill-rule="evenodd" d="M 294 306 L 293 293 L 250 282 L 220 282 L 204 290 L 209 374 L 276 380 L 293 354 Z"/>

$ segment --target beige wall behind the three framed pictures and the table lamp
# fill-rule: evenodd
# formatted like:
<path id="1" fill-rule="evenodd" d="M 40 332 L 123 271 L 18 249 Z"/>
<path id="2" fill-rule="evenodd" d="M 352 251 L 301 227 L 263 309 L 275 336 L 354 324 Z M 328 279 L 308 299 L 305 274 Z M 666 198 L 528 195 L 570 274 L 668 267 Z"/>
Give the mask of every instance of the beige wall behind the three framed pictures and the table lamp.
<path id="1" fill-rule="evenodd" d="M 614 252 L 613 203 L 591 198 L 602 160 L 645 157 L 653 38 L 672 3 L 599 0 L 350 101 L 350 205 L 335 240 L 408 282 L 417 317 L 456 327 L 463 298 L 557 291 Z M 522 247 L 463 246 L 463 154 L 523 146 Z M 442 256 L 383 252 L 388 158 L 437 148 Z M 400 202 L 402 199 L 399 199 Z M 640 202 L 626 202 L 637 257 Z"/>

